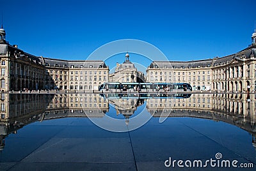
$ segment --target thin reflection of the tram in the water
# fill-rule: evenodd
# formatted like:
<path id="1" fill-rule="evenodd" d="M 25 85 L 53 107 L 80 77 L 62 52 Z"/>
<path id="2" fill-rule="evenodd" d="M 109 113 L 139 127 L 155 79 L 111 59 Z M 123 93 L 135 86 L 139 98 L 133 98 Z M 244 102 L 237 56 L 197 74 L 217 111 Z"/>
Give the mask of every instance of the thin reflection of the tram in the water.
<path id="1" fill-rule="evenodd" d="M 150 94 L 136 94 L 136 93 L 107 93 L 100 94 L 102 98 L 106 99 L 157 99 L 157 98 L 189 98 L 189 93 L 175 93 L 175 94 L 161 94 L 161 93 L 150 93 Z"/>

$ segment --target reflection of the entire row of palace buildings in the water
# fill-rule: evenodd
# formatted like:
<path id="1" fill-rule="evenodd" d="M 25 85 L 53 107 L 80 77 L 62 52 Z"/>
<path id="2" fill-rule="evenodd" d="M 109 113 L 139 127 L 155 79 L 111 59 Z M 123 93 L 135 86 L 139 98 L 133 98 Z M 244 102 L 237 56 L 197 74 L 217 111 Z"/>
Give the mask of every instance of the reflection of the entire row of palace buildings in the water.
<path id="1" fill-rule="evenodd" d="M 109 103 L 116 114 L 124 115 L 126 123 L 144 100 L 154 117 L 198 117 L 233 124 L 252 134 L 256 146 L 255 94 L 191 94 L 178 96 L 147 94 L 135 97 L 111 96 L 108 100 L 99 94 L 1 94 L 0 149 L 4 138 L 22 126 L 35 121 L 61 117 L 104 117 Z M 179 97 L 179 98 L 178 98 Z M 108 103 L 109 102 L 109 103 Z M 85 114 L 84 114 L 85 112 Z"/>

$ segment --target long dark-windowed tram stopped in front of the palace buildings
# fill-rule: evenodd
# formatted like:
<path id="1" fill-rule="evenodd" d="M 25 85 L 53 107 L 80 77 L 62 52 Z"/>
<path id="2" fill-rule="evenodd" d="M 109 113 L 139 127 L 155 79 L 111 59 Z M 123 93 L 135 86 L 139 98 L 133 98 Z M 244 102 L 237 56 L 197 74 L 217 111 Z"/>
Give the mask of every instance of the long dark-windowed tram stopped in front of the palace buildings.
<path id="1" fill-rule="evenodd" d="M 164 91 L 164 92 L 184 92 L 192 91 L 188 83 L 139 83 L 139 82 L 106 82 L 99 86 L 99 91 Z"/>

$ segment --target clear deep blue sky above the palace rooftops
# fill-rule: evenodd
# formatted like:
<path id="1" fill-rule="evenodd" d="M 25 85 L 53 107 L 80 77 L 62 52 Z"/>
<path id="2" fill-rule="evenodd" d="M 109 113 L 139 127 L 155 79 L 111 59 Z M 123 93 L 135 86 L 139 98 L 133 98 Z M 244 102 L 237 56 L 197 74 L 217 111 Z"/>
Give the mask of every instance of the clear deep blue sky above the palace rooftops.
<path id="1" fill-rule="evenodd" d="M 151 43 L 171 61 L 221 57 L 248 47 L 256 20 L 255 0 L 0 0 L 0 4 L 10 44 L 35 56 L 58 59 L 86 59 L 105 43 L 126 38 Z M 134 58 L 141 61 L 140 56 Z M 113 61 L 122 62 L 124 57 Z"/>

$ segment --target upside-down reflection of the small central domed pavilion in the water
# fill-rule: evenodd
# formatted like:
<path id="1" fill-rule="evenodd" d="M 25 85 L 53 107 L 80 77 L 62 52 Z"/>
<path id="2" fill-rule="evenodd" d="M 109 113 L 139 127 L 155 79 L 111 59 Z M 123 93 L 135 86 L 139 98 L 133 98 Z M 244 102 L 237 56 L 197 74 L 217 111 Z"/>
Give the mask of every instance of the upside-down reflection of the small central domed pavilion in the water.
<path id="1" fill-rule="evenodd" d="M 134 114 L 137 107 L 143 105 L 144 100 L 140 98 L 115 98 L 110 99 L 109 103 L 115 105 L 116 115 L 124 115 L 125 123 L 129 124 L 129 117 Z"/>

